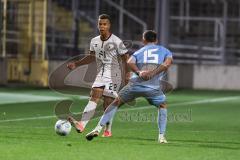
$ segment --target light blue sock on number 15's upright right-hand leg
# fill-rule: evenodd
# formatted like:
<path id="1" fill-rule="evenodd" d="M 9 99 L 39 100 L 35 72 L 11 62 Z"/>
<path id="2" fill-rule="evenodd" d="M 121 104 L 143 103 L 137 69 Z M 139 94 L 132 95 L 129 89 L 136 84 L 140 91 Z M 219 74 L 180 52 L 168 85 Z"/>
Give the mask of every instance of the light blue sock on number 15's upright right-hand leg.
<path id="1" fill-rule="evenodd" d="M 167 127 L 167 109 L 160 108 L 158 110 L 158 128 L 160 134 L 165 134 Z"/>

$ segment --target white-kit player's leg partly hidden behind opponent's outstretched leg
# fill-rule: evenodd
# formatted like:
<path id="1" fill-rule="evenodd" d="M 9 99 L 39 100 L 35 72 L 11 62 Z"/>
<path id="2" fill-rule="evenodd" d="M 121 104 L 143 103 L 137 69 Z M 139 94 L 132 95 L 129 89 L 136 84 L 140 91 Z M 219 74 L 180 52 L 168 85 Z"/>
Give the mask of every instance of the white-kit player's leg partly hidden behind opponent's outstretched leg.
<path id="1" fill-rule="evenodd" d="M 103 107 L 104 111 L 107 109 L 107 107 L 114 101 L 114 98 L 108 97 L 108 96 L 103 96 L 104 97 L 104 102 L 103 102 Z M 103 131 L 102 137 L 111 137 L 112 136 L 112 121 L 113 118 L 106 123 L 105 129 Z"/>

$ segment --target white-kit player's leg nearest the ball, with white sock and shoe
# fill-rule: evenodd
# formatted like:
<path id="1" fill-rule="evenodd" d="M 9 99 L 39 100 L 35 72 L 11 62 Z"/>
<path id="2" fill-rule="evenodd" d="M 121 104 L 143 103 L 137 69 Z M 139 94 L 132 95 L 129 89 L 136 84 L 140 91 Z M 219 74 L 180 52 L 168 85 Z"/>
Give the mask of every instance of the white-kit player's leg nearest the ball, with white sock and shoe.
<path id="1" fill-rule="evenodd" d="M 89 122 L 89 120 L 93 117 L 95 113 L 95 109 L 97 104 L 102 97 L 103 87 L 93 87 L 91 91 L 91 97 L 88 101 L 88 104 L 84 108 L 81 121 L 75 120 L 73 117 L 68 117 L 69 122 L 76 128 L 78 133 L 82 133 Z"/>

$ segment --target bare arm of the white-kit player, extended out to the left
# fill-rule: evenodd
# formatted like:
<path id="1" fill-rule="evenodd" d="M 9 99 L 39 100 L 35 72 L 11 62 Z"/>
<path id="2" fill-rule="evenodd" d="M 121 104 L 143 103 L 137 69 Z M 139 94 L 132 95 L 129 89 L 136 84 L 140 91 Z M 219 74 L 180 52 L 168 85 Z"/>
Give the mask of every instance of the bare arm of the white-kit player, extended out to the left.
<path id="1" fill-rule="evenodd" d="M 89 53 L 90 53 L 89 55 L 83 57 L 82 59 L 80 59 L 78 61 L 68 63 L 67 67 L 72 70 L 78 66 L 92 63 L 95 60 L 95 52 L 89 51 Z"/>

